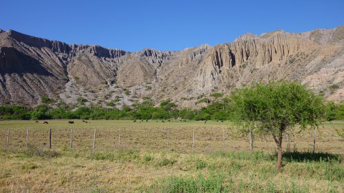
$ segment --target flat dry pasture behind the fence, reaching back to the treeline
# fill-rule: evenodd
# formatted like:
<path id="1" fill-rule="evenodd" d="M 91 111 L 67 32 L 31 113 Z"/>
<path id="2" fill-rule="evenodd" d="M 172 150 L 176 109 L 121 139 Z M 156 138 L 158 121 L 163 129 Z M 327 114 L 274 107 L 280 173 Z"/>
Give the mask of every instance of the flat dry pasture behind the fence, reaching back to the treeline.
<path id="1" fill-rule="evenodd" d="M 192 152 L 193 130 L 195 130 L 195 152 L 218 152 L 248 150 L 247 136 L 242 136 L 236 126 L 230 122 L 172 121 L 162 123 L 90 120 L 88 124 L 81 120 L 48 120 L 49 124 L 34 121 L 1 121 L 0 146 L 6 146 L 6 135 L 10 129 L 10 148 L 25 147 L 26 129 L 29 128 L 29 144 L 39 148 L 48 147 L 48 130 L 52 128 L 52 148 L 69 147 L 71 128 L 74 132 L 74 148 L 92 148 L 94 129 L 96 129 L 97 149 L 130 148 L 136 150 L 171 150 L 174 152 Z M 316 150 L 344 154 L 344 140 L 336 130 L 344 128 L 343 121 L 325 122 L 317 131 Z M 169 132 L 169 149 L 167 134 Z M 313 130 L 297 134 L 296 128 L 290 135 L 290 147 L 297 150 L 312 150 Z M 120 134 L 120 144 L 118 135 Z M 224 136 L 224 147 L 222 137 Z M 286 137 L 284 137 L 286 138 Z M 283 141 L 284 146 L 286 141 Z M 275 152 L 276 145 L 270 135 L 255 136 L 255 150 Z"/>

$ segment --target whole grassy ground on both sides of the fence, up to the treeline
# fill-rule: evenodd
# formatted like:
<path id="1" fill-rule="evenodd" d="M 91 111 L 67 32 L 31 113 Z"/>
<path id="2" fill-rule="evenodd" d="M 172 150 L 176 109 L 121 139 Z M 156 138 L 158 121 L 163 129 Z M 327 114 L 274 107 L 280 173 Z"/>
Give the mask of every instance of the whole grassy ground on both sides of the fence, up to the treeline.
<path id="1" fill-rule="evenodd" d="M 283 155 L 282 171 L 275 168 L 272 137 L 257 135 L 255 151 L 249 152 L 248 137 L 230 122 L 48 122 L 0 122 L 0 192 L 344 191 L 344 140 L 336 133 L 344 127 L 340 121 L 325 122 L 317 131 L 316 154 L 308 152 L 313 131 L 294 129 L 290 140 L 295 151 Z M 52 150 L 47 149 L 49 128 Z M 94 129 L 96 150 L 92 150 Z"/>

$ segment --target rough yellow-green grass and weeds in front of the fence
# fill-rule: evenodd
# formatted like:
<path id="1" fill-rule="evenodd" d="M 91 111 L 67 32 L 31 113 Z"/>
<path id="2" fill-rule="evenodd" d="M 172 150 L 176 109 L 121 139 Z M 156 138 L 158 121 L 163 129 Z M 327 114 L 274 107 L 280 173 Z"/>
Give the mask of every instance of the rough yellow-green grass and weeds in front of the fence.
<path id="1" fill-rule="evenodd" d="M 182 154 L 139 150 L 1 150 L 0 192 L 341 192 L 339 155 Z M 33 152 L 33 153 L 32 153 Z M 311 156 L 310 156 L 311 155 Z M 29 177 L 30 176 L 30 177 Z"/>

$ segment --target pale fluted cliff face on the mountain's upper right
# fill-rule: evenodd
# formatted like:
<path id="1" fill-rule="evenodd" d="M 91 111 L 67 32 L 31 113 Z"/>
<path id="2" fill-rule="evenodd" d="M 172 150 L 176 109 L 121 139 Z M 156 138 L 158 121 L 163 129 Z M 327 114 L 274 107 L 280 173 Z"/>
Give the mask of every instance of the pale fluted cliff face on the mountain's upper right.
<path id="1" fill-rule="evenodd" d="M 314 49 L 316 46 L 312 41 L 281 31 L 261 36 L 246 34 L 233 43 L 215 46 L 197 72 L 196 80 L 202 80 L 202 87 L 213 87 L 222 71 L 228 71 L 247 61 L 252 61 L 255 67 L 281 63 L 292 54 Z"/>

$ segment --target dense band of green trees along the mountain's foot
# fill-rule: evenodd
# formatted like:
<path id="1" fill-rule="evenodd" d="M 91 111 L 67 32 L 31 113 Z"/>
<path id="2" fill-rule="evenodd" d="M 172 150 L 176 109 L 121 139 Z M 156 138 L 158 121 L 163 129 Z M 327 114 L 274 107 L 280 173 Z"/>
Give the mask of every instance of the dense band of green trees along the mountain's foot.
<path id="1" fill-rule="evenodd" d="M 344 120 L 344 104 L 326 104 L 325 119 Z M 66 104 L 52 107 L 41 104 L 34 108 L 28 106 L 0 106 L 0 120 L 50 120 L 50 119 L 83 119 L 83 120 L 230 120 L 230 100 L 224 98 L 211 102 L 202 109 L 179 109 L 170 100 L 164 100 L 154 106 L 147 100 L 133 106 L 116 107 L 102 106 L 67 106 Z"/>

